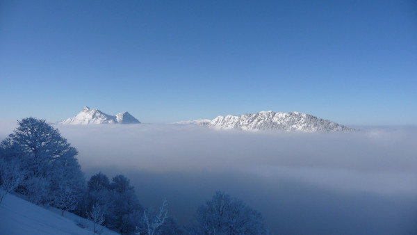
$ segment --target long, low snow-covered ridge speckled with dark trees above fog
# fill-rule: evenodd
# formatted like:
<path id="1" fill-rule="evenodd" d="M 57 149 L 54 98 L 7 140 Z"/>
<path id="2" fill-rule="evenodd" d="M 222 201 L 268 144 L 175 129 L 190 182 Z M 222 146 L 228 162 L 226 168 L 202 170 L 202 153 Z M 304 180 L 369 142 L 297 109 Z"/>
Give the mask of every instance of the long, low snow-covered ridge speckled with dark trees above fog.
<path id="1" fill-rule="evenodd" d="M 275 113 L 262 111 L 259 113 L 248 113 L 240 116 L 227 115 L 218 116 L 211 122 L 197 124 L 213 127 L 215 129 L 241 129 L 247 131 L 279 130 L 279 131 L 354 131 L 341 124 L 324 120 L 305 113 Z"/>

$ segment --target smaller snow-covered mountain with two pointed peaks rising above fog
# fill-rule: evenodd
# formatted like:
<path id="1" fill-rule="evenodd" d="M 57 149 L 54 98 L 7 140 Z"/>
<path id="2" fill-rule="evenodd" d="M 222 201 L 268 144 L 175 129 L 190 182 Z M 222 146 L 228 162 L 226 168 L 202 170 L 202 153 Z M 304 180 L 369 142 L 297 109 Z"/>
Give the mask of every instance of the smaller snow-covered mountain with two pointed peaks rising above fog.
<path id="1" fill-rule="evenodd" d="M 59 124 L 137 124 L 140 123 L 128 112 L 108 115 L 97 108 L 84 107 L 75 117 L 70 117 Z"/>

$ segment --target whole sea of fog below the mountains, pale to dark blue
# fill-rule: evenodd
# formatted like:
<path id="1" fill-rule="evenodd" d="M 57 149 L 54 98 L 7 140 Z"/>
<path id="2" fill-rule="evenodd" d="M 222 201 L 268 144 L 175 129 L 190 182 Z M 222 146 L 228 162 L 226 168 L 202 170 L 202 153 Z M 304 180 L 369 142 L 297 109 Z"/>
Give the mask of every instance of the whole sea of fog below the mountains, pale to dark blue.
<path id="1" fill-rule="evenodd" d="M 181 223 L 215 191 L 272 234 L 416 234 L 417 128 L 352 133 L 216 131 L 175 124 L 56 125 L 87 179 L 125 175 L 143 206 Z M 14 127 L 3 124 L 0 137 Z"/>

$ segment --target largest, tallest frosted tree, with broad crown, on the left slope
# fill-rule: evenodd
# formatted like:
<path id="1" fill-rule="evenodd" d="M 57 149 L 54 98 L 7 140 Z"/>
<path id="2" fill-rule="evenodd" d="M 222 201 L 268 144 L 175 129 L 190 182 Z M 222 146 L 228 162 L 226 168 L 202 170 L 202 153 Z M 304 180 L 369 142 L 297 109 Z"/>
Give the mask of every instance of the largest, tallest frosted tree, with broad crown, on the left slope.
<path id="1" fill-rule="evenodd" d="M 17 128 L 0 144 L 1 158 L 22 163 L 20 172 L 26 177 L 18 191 L 35 204 L 54 202 L 60 185 L 81 196 L 85 179 L 76 154 L 58 129 L 34 117 L 18 121 Z"/>

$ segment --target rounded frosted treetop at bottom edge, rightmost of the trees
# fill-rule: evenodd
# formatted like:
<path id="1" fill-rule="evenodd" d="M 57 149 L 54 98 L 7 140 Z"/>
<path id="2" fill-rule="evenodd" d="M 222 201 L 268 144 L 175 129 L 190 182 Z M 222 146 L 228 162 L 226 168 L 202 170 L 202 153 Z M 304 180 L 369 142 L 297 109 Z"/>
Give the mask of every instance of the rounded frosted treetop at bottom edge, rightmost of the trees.
<path id="1" fill-rule="evenodd" d="M 196 219 L 197 234 L 266 234 L 260 213 L 220 191 L 199 206 Z"/>

